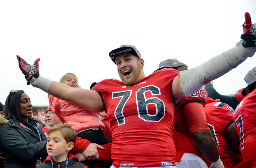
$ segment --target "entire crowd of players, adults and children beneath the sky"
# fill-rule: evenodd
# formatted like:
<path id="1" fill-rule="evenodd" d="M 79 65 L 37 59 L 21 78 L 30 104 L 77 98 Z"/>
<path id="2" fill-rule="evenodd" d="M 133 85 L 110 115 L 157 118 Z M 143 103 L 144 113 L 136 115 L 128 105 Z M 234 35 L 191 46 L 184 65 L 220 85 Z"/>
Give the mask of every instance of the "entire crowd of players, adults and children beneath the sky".
<path id="1" fill-rule="evenodd" d="M 49 107 L 10 91 L 0 104 L 1 166 L 256 167 L 256 67 L 233 97 L 209 83 L 255 54 L 249 13 L 243 29 L 235 47 L 198 67 L 167 59 L 149 76 L 138 49 L 122 45 L 109 53 L 121 81 L 105 79 L 90 89 L 80 88 L 74 73 L 50 81 L 39 75 L 40 58 L 28 64 L 17 55 L 27 83 L 48 93 Z"/>

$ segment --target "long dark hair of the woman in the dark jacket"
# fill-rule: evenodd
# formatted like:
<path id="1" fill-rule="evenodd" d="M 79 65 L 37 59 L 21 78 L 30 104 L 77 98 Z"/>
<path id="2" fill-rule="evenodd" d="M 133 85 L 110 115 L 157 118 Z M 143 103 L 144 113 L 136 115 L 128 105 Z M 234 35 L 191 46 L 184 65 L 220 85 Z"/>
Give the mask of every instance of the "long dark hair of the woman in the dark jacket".
<path id="1" fill-rule="evenodd" d="M 6 119 L 12 118 L 14 121 L 24 121 L 24 119 L 20 118 L 20 97 L 22 93 L 24 93 L 23 90 L 18 90 L 15 93 L 10 92 L 7 96 L 3 109 Z"/>

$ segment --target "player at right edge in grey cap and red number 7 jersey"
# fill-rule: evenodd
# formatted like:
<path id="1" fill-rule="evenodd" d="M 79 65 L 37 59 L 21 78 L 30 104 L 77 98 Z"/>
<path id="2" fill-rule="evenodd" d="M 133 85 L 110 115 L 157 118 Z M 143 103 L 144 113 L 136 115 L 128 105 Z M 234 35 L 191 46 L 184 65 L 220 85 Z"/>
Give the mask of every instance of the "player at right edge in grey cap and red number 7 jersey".
<path id="1" fill-rule="evenodd" d="M 242 95 L 246 96 L 236 107 L 233 120 L 240 139 L 240 152 L 248 168 L 256 167 L 256 67 L 245 76 L 248 84 Z"/>

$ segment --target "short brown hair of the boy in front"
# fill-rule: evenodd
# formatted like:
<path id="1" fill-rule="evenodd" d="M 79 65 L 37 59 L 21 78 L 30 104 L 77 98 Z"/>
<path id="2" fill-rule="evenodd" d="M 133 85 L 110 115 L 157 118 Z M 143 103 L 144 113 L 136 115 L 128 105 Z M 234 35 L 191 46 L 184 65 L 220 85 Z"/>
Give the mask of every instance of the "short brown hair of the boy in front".
<path id="1" fill-rule="evenodd" d="M 76 145 L 76 131 L 70 127 L 68 124 L 58 124 L 55 125 L 47 131 L 47 134 L 49 135 L 53 131 L 60 131 L 64 139 L 67 143 L 73 142 L 74 146 Z M 74 149 L 74 147 L 69 151 L 71 152 Z"/>

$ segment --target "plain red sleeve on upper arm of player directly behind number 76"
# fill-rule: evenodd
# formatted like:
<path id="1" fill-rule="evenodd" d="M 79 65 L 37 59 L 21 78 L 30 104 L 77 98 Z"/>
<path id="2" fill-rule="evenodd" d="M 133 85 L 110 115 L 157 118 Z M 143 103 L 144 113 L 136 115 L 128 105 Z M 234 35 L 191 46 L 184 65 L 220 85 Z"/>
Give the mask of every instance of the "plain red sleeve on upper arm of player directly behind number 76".
<path id="1" fill-rule="evenodd" d="M 204 106 L 201 103 L 191 102 L 185 104 L 182 108 L 182 112 L 189 133 L 195 131 L 210 131 L 204 113 Z"/>

